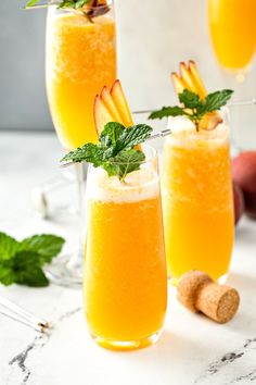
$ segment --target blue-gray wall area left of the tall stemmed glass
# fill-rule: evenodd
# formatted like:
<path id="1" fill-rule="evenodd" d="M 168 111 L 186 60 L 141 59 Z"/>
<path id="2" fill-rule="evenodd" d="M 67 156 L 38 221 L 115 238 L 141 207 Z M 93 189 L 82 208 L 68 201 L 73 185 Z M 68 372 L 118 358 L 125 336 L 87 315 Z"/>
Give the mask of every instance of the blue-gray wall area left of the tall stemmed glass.
<path id="1" fill-rule="evenodd" d="M 44 11 L 0 0 L 0 128 L 51 127 L 44 92 Z"/>

